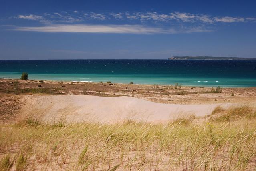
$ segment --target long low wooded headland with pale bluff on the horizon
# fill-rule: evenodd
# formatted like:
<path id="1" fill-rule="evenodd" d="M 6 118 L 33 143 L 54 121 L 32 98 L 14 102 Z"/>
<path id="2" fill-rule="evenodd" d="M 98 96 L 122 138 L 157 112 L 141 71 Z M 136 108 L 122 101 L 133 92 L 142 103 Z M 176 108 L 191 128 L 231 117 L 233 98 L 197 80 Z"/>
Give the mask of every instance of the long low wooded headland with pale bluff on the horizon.
<path id="1" fill-rule="evenodd" d="M 214 57 L 214 56 L 172 56 L 169 60 L 256 60 L 256 58 Z"/>

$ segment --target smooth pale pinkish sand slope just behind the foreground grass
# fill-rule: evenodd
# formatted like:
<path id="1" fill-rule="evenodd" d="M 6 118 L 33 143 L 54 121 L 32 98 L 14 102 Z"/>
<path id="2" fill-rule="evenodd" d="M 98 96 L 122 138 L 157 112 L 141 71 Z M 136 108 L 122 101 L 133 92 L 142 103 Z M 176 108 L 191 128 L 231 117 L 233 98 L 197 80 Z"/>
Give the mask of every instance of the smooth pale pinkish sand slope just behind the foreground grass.
<path id="1" fill-rule="evenodd" d="M 121 122 L 125 119 L 165 123 L 169 120 L 192 115 L 204 117 L 212 113 L 217 104 L 176 105 L 145 101 L 135 97 L 99 97 L 89 95 L 33 96 L 24 112 L 40 116 L 45 121 L 65 117 L 67 122 L 97 121 Z M 230 103 L 218 104 L 228 107 Z"/>

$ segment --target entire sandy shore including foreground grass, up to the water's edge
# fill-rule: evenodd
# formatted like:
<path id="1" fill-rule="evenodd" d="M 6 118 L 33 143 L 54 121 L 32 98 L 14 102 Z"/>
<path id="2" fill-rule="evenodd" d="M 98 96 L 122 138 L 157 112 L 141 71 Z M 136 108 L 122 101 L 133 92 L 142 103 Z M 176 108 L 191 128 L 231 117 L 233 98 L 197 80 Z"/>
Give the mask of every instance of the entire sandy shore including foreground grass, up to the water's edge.
<path id="1" fill-rule="evenodd" d="M 255 105 L 256 87 L 0 79 L 0 168 L 253 170 Z"/>

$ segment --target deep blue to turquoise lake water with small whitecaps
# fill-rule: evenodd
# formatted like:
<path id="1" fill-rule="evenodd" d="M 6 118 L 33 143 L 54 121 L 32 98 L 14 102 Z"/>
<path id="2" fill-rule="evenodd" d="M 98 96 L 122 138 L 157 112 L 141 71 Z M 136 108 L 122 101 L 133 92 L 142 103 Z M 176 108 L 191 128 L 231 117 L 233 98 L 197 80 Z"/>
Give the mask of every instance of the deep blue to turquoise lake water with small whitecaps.
<path id="1" fill-rule="evenodd" d="M 256 60 L 0 60 L 0 78 L 256 87 Z"/>

